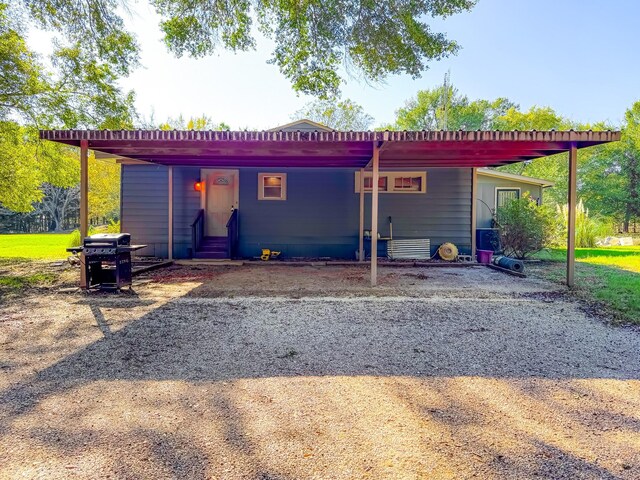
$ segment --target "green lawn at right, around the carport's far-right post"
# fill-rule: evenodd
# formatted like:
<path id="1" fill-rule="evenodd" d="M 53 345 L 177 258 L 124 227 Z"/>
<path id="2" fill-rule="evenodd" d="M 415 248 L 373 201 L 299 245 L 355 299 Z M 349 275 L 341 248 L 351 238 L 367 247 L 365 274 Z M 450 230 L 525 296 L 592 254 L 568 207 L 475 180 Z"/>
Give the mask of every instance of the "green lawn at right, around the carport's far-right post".
<path id="1" fill-rule="evenodd" d="M 541 252 L 534 273 L 565 280 L 566 250 Z M 640 324 L 640 246 L 576 249 L 576 292 L 610 307 L 621 320 Z"/>

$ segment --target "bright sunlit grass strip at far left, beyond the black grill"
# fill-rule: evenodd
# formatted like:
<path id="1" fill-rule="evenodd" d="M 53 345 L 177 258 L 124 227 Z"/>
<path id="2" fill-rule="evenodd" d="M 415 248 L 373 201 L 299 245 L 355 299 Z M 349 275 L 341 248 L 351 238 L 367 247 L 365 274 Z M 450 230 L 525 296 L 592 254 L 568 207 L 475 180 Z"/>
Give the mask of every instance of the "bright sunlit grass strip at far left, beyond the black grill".
<path id="1" fill-rule="evenodd" d="M 69 254 L 69 234 L 37 233 L 0 235 L 0 258 L 60 260 Z"/>

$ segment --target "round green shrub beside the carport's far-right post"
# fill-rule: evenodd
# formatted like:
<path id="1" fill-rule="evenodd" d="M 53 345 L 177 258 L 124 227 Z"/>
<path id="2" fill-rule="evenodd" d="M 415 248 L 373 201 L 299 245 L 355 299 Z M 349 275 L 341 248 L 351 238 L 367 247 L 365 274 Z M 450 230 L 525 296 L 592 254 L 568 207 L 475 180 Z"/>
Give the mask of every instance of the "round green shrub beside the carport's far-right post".
<path id="1" fill-rule="evenodd" d="M 509 257 L 527 258 L 546 247 L 553 237 L 553 210 L 538 205 L 528 193 L 500 207 L 497 221 L 504 254 Z"/>

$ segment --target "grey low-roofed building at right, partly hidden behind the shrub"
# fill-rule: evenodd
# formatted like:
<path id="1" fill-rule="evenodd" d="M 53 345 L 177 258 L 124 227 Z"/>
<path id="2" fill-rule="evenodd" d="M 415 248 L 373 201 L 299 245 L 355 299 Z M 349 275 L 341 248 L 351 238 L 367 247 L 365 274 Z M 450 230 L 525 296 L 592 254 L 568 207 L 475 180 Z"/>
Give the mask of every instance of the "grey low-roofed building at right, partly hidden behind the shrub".
<path id="1" fill-rule="evenodd" d="M 479 168 L 477 172 L 476 226 L 478 228 L 491 228 L 497 209 L 510 200 L 521 198 L 525 193 L 541 205 L 544 189 L 554 185 L 548 180 L 514 175 L 489 168 Z"/>

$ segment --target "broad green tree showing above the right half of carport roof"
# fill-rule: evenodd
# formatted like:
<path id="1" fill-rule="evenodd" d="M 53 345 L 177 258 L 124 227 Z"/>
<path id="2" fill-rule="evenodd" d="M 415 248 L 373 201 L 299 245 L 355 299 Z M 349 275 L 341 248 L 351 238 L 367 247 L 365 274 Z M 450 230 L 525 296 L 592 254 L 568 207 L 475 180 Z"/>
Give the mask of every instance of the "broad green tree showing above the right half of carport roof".
<path id="1" fill-rule="evenodd" d="M 420 90 L 396 111 L 399 130 L 491 130 L 515 105 L 506 98 L 469 100 L 452 85 Z"/>

